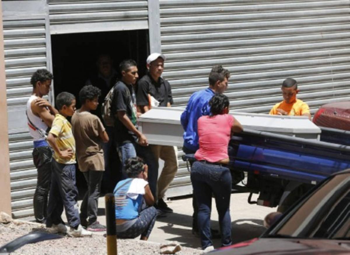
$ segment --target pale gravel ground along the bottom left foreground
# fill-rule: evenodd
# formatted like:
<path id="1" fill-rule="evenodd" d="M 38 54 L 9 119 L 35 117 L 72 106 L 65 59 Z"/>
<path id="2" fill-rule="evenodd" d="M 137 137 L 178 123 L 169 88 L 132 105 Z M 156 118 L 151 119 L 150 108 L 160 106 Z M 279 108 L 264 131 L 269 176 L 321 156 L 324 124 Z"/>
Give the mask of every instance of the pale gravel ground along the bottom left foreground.
<path id="1" fill-rule="evenodd" d="M 33 231 L 45 231 L 40 224 L 26 222 L 11 222 L 7 224 L 0 223 L 0 247 L 14 239 L 31 233 Z M 160 254 L 160 244 L 154 242 L 145 242 L 136 239 L 118 239 L 118 255 L 134 255 L 134 254 Z M 103 235 L 93 235 L 92 237 L 74 238 L 63 236 L 60 239 L 47 240 L 32 244 L 26 244 L 15 250 L 11 254 L 40 254 L 40 255 L 105 255 L 106 238 Z M 201 250 L 184 248 L 176 253 L 177 255 L 197 255 L 202 254 Z"/>

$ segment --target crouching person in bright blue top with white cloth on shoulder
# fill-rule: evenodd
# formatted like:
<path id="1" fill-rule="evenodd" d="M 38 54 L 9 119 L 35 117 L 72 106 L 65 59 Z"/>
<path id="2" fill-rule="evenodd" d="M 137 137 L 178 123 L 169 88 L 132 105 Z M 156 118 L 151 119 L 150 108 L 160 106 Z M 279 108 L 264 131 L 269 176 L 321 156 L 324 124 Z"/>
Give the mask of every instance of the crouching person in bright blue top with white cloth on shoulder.
<path id="1" fill-rule="evenodd" d="M 157 210 L 147 182 L 148 167 L 139 157 L 125 162 L 127 179 L 114 188 L 116 201 L 116 232 L 119 238 L 135 238 L 147 241 L 154 226 Z M 148 206 L 145 209 L 143 204 Z"/>

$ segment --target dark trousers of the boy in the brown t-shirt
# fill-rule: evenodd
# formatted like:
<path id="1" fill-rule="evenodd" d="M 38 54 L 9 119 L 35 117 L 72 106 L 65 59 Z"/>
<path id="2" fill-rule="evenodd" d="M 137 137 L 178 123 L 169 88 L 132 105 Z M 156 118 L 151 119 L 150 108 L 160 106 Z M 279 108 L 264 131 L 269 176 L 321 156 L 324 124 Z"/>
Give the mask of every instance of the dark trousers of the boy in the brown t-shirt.
<path id="1" fill-rule="evenodd" d="M 98 198 L 101 190 L 101 181 L 104 171 L 89 170 L 83 172 L 87 183 L 82 205 L 80 206 L 80 217 L 86 219 L 89 217 L 89 224 L 97 220 Z"/>

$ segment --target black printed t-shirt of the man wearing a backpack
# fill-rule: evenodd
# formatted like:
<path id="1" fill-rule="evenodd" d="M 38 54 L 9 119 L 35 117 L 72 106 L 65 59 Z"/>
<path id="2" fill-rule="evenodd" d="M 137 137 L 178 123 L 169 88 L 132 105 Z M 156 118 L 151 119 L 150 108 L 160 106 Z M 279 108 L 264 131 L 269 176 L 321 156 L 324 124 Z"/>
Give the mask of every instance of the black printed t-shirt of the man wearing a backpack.
<path id="1" fill-rule="evenodd" d="M 113 100 L 111 105 L 111 112 L 114 116 L 114 131 L 118 145 L 124 143 L 136 142 L 137 136 L 134 132 L 127 129 L 119 118 L 115 115 L 118 111 L 125 111 L 127 117 L 131 120 L 134 126 L 137 127 L 137 112 L 136 112 L 136 98 L 135 91 L 132 85 L 126 85 L 119 81 L 114 85 Z"/>

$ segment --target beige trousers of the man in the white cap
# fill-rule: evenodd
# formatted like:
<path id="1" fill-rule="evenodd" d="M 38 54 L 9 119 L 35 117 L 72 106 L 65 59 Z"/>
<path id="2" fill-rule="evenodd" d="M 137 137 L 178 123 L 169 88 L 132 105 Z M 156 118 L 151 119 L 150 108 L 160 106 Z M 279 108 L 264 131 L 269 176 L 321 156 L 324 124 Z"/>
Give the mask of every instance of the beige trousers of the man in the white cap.
<path id="1" fill-rule="evenodd" d="M 150 146 L 154 155 L 154 159 L 156 161 L 159 159 L 162 159 L 164 161 L 164 167 L 157 183 L 158 198 L 155 198 L 155 201 L 158 201 L 164 197 L 164 194 L 167 191 L 170 182 L 173 181 L 177 172 L 177 167 L 179 166 L 179 163 L 177 162 L 177 147 L 154 144 Z"/>

